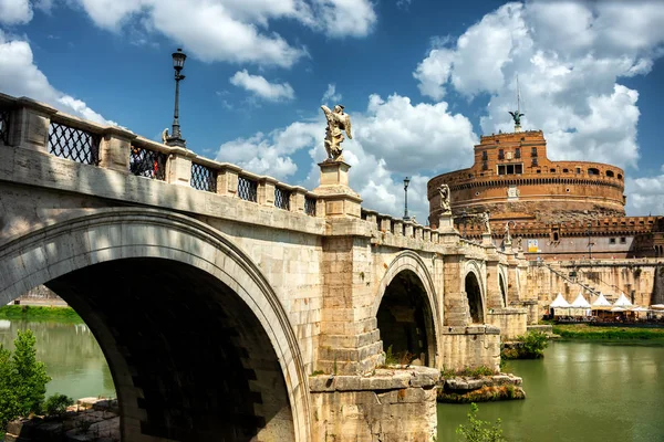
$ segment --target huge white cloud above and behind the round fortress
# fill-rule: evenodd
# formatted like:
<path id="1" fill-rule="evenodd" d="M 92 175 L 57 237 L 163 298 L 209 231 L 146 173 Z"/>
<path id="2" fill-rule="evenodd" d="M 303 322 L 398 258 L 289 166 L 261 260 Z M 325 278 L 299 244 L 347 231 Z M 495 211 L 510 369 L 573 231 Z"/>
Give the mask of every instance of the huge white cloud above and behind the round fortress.
<path id="1" fill-rule="evenodd" d="M 507 3 L 432 48 L 413 75 L 436 101 L 488 94 L 485 134 L 513 130 L 518 75 L 522 126 L 544 130 L 552 159 L 635 167 L 639 94 L 619 78 L 649 73 L 663 43 L 661 2 Z"/>

